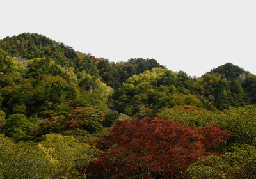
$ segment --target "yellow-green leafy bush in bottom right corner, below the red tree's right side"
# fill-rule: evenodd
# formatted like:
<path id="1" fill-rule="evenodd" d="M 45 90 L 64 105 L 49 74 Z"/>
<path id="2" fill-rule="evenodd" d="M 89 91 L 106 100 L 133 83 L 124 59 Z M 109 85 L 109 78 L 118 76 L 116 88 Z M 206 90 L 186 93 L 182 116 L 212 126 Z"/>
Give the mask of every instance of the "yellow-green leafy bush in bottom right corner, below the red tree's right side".
<path id="1" fill-rule="evenodd" d="M 186 171 L 188 178 L 255 178 L 256 148 L 241 146 L 225 155 L 202 157 Z"/>

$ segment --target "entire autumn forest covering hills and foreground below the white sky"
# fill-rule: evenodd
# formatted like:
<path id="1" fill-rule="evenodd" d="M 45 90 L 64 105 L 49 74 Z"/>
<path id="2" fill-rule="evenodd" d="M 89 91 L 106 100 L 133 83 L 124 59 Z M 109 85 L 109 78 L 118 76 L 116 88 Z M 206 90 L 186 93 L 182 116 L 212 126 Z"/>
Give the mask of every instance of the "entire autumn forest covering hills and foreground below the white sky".
<path id="1" fill-rule="evenodd" d="M 85 49 L 86 50 L 86 49 Z M 256 76 L 0 40 L 0 178 L 256 178 Z"/>

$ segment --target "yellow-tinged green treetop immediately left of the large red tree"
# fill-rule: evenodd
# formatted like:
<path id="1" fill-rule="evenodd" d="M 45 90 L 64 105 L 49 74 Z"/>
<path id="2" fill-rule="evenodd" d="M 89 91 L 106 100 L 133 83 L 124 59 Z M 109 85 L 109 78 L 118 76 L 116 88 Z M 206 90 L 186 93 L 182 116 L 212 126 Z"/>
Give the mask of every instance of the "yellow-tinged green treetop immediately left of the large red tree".
<path id="1" fill-rule="evenodd" d="M 52 167 L 67 178 L 72 178 L 84 164 L 96 159 L 97 149 L 88 144 L 77 143 L 72 136 L 50 134 L 40 144 L 40 149 L 48 152 Z M 76 177 L 74 177 L 76 178 Z"/>

